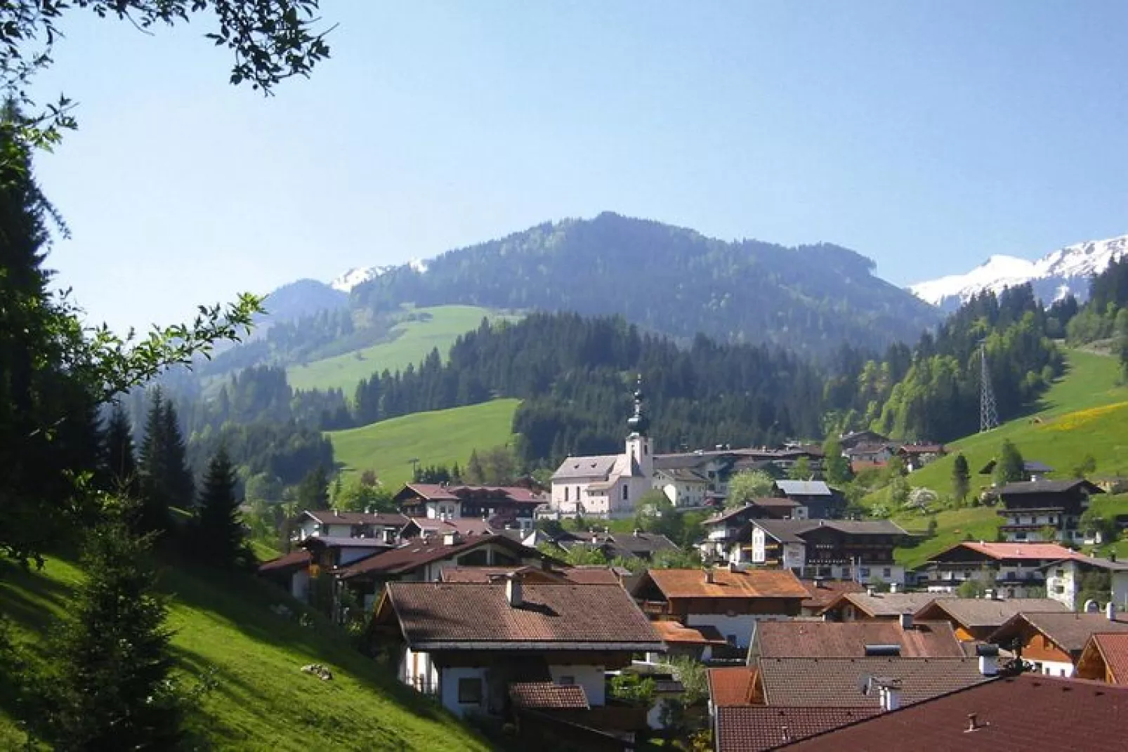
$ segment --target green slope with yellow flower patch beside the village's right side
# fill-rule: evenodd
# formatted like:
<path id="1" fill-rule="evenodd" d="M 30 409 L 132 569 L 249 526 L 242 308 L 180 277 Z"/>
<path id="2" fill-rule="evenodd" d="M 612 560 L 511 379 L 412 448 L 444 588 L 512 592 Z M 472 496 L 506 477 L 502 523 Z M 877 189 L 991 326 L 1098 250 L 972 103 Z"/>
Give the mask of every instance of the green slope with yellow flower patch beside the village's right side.
<path id="1" fill-rule="evenodd" d="M 1095 476 L 1128 475 L 1128 387 L 1117 383 L 1117 361 L 1078 351 L 1068 351 L 1066 355 L 1068 372 L 1047 390 L 1034 415 L 1010 421 L 989 433 L 951 442 L 952 454 L 909 475 L 909 484 L 932 488 L 942 495 L 950 493 L 954 454 L 962 452 L 972 472 L 972 494 L 978 494 L 990 484 L 990 478 L 977 471 L 995 457 L 1004 439 L 1014 442 L 1028 460 L 1040 460 L 1056 468 L 1055 477 L 1069 477 L 1086 454 L 1096 460 Z M 1032 422 L 1034 416 L 1041 423 Z M 883 496 L 879 492 L 869 502 L 881 502 Z M 1109 499 L 1105 503 L 1117 502 Z M 935 517 L 936 537 L 916 548 L 900 549 L 898 560 L 917 566 L 966 534 L 994 540 L 999 522 L 990 507 L 944 511 Z M 927 524 L 926 517 L 916 513 L 898 514 L 893 519 L 908 530 L 923 531 Z"/>

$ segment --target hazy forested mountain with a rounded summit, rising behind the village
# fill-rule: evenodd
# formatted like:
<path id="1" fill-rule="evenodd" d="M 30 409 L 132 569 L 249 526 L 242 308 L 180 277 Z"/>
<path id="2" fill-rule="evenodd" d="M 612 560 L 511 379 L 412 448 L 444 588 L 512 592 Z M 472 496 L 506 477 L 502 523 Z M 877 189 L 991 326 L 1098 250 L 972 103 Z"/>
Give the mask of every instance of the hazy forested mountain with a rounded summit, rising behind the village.
<path id="1" fill-rule="evenodd" d="M 351 304 L 376 312 L 462 303 L 620 315 L 682 342 L 705 334 L 820 355 L 844 342 L 874 348 L 915 342 L 940 320 L 936 309 L 873 268 L 835 245 L 726 242 L 603 213 L 385 269 L 352 289 Z"/>

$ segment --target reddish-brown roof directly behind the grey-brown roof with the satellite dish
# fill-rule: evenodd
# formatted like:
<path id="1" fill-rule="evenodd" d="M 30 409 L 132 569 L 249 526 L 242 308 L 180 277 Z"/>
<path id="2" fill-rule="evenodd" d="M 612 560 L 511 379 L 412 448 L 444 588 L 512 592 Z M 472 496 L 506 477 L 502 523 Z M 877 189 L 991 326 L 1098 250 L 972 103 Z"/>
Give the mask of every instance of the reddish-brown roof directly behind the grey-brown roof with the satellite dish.
<path id="1" fill-rule="evenodd" d="M 900 645 L 906 658 L 960 658 L 963 649 L 946 621 L 918 621 L 901 629 L 896 621 L 761 621 L 758 655 L 769 658 L 864 657 L 866 645 Z"/>

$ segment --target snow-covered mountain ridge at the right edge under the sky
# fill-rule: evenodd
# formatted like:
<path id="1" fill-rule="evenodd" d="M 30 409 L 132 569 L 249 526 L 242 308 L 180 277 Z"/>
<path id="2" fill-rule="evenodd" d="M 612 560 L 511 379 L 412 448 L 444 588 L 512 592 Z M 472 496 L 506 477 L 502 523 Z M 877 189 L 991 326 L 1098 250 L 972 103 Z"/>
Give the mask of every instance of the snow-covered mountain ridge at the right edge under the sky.
<path id="1" fill-rule="evenodd" d="M 1089 297 L 1089 278 L 1128 253 L 1128 235 L 1108 240 L 1090 240 L 1059 248 L 1038 260 L 1014 256 L 992 256 L 967 274 L 953 274 L 909 285 L 924 301 L 944 310 L 955 310 L 971 295 L 1030 282 L 1034 294 L 1051 301 L 1073 293 L 1078 301 Z"/>

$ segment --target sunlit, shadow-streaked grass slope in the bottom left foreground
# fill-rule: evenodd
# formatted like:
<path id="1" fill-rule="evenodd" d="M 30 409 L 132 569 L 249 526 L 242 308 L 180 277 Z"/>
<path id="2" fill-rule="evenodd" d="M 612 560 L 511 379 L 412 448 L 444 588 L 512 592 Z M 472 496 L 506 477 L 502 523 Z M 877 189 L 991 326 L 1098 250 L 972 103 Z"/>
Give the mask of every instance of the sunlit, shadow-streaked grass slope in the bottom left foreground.
<path id="1" fill-rule="evenodd" d="M 41 643 L 81 572 L 52 558 L 42 573 L 0 563 L 0 612 L 18 637 Z M 190 675 L 217 670 L 193 731 L 212 749 L 230 750 L 485 750 L 473 733 L 429 700 L 398 683 L 387 669 L 351 649 L 324 623 L 299 627 L 268 611 L 289 602 L 248 576 L 169 569 L 174 648 Z M 292 603 L 291 603 L 292 605 Z M 300 666 L 321 663 L 320 681 Z M 0 749 L 23 734 L 0 709 Z"/>

